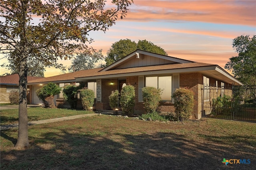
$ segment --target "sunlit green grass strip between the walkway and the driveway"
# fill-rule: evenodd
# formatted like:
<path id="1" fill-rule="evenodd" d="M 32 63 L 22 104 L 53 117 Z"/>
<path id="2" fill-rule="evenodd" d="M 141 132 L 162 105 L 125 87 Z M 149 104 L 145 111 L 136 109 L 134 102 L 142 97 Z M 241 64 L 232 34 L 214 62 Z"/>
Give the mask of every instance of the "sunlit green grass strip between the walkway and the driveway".
<path id="1" fill-rule="evenodd" d="M 28 108 L 28 121 L 39 121 L 45 119 L 53 119 L 58 117 L 66 117 L 73 115 L 83 115 L 93 113 L 83 110 L 72 109 L 46 109 L 44 107 Z M 18 123 L 18 109 L 5 109 L 0 111 L 1 125 Z"/>

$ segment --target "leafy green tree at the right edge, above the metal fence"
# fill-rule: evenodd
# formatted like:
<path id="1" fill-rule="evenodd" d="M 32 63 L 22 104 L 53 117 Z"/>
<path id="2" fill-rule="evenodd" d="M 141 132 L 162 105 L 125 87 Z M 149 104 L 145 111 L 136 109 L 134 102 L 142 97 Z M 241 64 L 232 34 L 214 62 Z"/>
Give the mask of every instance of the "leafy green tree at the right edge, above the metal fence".
<path id="1" fill-rule="evenodd" d="M 242 83 L 256 85 L 256 36 L 238 36 L 232 45 L 238 56 L 231 57 L 225 69 L 232 70 Z"/>

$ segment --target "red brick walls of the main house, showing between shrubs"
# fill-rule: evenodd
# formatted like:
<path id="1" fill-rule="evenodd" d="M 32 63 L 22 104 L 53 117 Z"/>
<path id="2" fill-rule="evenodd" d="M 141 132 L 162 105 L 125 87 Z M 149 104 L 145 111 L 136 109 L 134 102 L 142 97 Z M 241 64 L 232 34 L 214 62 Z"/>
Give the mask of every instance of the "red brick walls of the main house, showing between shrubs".
<path id="1" fill-rule="evenodd" d="M 194 111 L 192 114 L 192 119 L 201 119 L 202 117 L 202 103 L 204 100 L 204 85 L 203 85 L 203 76 L 202 73 L 180 73 L 180 87 L 188 87 L 190 90 L 194 92 Z M 138 102 L 139 94 L 138 94 L 138 76 L 126 77 L 126 84 L 133 85 L 135 87 L 135 114 L 144 114 L 144 104 L 142 102 Z M 216 86 L 216 79 L 209 78 L 210 85 Z M 109 95 L 112 91 L 118 89 L 118 79 L 102 79 L 101 80 L 101 102 L 94 103 L 94 109 L 96 110 L 111 110 L 109 106 Z M 218 81 L 218 85 L 221 82 Z M 226 84 L 225 84 L 226 85 Z M 226 91 L 225 89 L 225 92 Z M 173 93 L 173 92 L 172 92 Z M 218 91 L 220 93 L 220 90 Z M 218 94 L 220 95 L 220 94 Z M 67 103 L 61 99 L 56 100 L 56 105 L 58 107 L 67 107 Z M 81 103 L 78 102 L 78 108 L 80 108 Z M 82 106 L 82 105 L 81 105 Z M 81 107 L 82 108 L 82 107 Z M 162 113 L 174 113 L 175 108 L 172 102 L 161 102 L 160 103 L 160 111 Z"/>

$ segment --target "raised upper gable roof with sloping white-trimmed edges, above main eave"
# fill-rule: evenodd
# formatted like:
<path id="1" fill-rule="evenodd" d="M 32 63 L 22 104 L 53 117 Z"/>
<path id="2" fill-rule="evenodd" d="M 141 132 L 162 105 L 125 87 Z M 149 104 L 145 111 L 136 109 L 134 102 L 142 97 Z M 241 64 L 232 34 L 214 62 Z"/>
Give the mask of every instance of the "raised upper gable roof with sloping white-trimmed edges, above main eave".
<path id="1" fill-rule="evenodd" d="M 168 60 L 168 61 L 173 61 L 174 63 L 193 63 L 194 62 L 194 61 L 189 61 L 189 60 L 186 60 L 186 59 L 170 57 L 168 55 L 161 55 L 161 54 L 152 53 L 152 52 L 148 52 L 148 51 L 142 51 L 140 49 L 137 49 L 136 51 L 133 51 L 132 53 L 130 53 L 126 57 L 112 63 L 111 65 L 108 65 L 107 67 L 105 67 L 101 71 L 113 70 L 113 69 L 117 68 L 118 66 L 126 63 L 126 61 L 128 61 L 132 57 L 135 57 L 135 58 L 139 59 L 140 57 L 143 57 L 143 56 L 152 56 L 152 57 L 156 57 L 156 58 L 160 58 L 160 59 L 164 59 L 164 60 Z"/>

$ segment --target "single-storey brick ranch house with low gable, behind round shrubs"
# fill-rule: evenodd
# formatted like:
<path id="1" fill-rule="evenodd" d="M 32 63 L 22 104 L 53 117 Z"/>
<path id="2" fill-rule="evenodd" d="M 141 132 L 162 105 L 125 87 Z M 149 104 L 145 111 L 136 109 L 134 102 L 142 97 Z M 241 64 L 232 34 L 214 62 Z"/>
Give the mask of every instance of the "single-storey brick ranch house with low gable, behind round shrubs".
<path id="1" fill-rule="evenodd" d="M 63 87 L 65 83 L 86 82 L 85 86 L 94 90 L 94 109 L 110 109 L 108 96 L 112 91 L 121 91 L 124 84 L 135 87 L 135 113 L 144 113 L 142 88 L 152 86 L 162 89 L 162 112 L 174 112 L 172 94 L 179 87 L 188 87 L 194 92 L 193 118 L 200 119 L 202 115 L 202 101 L 204 100 L 204 85 L 242 85 L 232 75 L 218 65 L 199 63 L 136 50 L 126 57 L 105 68 L 89 69 L 67 73 L 40 80 L 29 81 L 32 93 L 40 88 L 40 84 L 54 82 Z M 34 96 L 34 95 L 33 95 Z M 32 96 L 32 104 L 38 104 Z M 57 107 L 63 107 L 62 94 L 57 96 Z"/>

